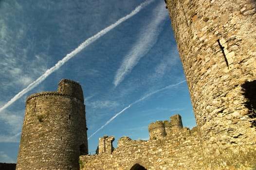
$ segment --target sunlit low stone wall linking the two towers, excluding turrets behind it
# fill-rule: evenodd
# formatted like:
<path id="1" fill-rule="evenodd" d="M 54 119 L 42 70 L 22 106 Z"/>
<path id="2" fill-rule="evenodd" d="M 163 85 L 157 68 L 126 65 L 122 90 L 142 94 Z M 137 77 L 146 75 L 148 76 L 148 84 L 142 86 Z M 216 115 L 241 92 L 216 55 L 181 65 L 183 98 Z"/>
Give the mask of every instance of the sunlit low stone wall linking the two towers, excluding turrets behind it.
<path id="1" fill-rule="evenodd" d="M 191 133 L 190 133 L 191 132 Z M 180 129 L 162 139 L 122 137 L 112 153 L 80 156 L 81 170 L 202 170 L 201 145 L 196 130 Z"/>

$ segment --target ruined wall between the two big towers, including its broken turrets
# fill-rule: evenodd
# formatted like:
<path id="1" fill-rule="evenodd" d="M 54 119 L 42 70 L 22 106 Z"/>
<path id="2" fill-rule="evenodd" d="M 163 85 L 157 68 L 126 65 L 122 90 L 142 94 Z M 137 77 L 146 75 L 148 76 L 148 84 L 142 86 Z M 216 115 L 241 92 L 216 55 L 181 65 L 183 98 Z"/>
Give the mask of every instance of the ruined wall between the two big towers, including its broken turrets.
<path id="1" fill-rule="evenodd" d="M 170 122 L 148 126 L 149 140 L 120 138 L 113 149 L 114 136 L 99 139 L 95 155 L 80 156 L 82 170 L 201 170 L 203 155 L 197 128 L 183 128 L 181 116 Z"/>

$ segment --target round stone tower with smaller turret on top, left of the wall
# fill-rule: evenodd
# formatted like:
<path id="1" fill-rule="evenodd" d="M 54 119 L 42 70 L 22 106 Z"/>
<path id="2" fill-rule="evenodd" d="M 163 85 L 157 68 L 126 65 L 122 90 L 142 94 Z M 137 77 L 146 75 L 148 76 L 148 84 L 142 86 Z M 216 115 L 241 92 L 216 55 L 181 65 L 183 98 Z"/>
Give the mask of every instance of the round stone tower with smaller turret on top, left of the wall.
<path id="1" fill-rule="evenodd" d="M 19 145 L 17 170 L 79 170 L 88 153 L 81 86 L 62 79 L 56 92 L 29 96 Z"/>

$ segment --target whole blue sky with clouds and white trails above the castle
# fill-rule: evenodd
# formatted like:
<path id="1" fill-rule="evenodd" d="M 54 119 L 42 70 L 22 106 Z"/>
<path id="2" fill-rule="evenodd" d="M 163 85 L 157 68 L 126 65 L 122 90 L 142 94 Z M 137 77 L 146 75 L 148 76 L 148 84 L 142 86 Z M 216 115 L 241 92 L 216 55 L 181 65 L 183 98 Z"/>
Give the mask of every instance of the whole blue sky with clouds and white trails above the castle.
<path id="1" fill-rule="evenodd" d="M 26 98 L 62 78 L 82 85 L 89 152 L 176 113 L 196 125 L 164 0 L 0 0 L 0 16 L 0 162 L 16 162 Z"/>

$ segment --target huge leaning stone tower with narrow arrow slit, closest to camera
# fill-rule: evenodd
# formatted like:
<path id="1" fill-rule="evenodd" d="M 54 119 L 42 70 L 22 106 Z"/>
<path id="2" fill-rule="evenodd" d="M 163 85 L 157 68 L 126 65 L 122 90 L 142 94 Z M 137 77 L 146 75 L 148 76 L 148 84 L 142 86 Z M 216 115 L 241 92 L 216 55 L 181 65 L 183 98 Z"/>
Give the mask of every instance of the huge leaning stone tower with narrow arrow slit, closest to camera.
<path id="1" fill-rule="evenodd" d="M 256 167 L 256 0 L 165 2 L 205 167 Z"/>

